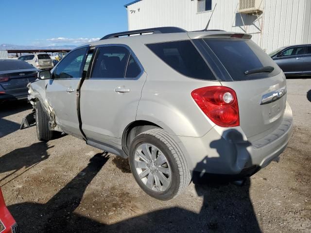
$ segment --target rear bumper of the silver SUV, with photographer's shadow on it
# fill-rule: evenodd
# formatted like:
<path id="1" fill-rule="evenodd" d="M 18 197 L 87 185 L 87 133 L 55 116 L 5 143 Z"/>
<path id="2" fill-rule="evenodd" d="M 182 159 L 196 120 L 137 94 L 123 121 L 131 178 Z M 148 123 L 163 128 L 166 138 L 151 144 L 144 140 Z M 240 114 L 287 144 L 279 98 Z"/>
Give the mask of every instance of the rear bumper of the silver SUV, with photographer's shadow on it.
<path id="1" fill-rule="evenodd" d="M 178 136 L 192 176 L 207 174 L 250 176 L 276 159 L 293 133 L 293 115 L 287 104 L 282 124 L 274 132 L 249 142 L 240 127 L 214 127 L 203 137 Z M 264 143 L 264 141 L 266 143 Z"/>

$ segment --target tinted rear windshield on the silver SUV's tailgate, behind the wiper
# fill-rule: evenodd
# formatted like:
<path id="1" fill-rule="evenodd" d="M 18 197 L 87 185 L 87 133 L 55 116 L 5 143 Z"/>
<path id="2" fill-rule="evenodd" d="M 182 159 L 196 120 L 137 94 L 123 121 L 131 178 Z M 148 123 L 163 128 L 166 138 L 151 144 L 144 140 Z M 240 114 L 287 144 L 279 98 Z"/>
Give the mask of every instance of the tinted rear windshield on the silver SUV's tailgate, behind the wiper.
<path id="1" fill-rule="evenodd" d="M 250 39 L 208 38 L 204 41 L 213 50 L 234 81 L 267 78 L 281 72 L 272 58 Z M 249 75 L 244 73 L 247 70 L 267 66 L 274 67 L 274 71 Z"/>

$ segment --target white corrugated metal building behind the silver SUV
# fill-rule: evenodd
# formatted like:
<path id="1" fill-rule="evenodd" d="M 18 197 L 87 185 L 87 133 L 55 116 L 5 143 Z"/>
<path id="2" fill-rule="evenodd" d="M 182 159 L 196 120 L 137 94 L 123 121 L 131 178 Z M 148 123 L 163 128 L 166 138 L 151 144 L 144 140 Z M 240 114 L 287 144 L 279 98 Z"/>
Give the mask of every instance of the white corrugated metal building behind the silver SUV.
<path id="1" fill-rule="evenodd" d="M 176 26 L 252 34 L 271 52 L 287 45 L 311 44 L 311 0 L 135 0 L 126 4 L 128 29 Z"/>

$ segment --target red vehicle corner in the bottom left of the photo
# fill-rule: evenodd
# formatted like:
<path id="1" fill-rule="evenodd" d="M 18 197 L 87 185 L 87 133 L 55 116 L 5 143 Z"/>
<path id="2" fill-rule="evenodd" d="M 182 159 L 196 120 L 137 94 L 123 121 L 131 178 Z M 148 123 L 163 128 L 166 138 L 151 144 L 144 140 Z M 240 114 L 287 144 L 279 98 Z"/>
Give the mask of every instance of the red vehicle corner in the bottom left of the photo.
<path id="1" fill-rule="evenodd" d="M 5 206 L 0 188 L 0 233 L 19 233 L 19 232 L 20 231 L 16 221 L 14 220 L 13 216 L 10 214 L 9 210 Z"/>

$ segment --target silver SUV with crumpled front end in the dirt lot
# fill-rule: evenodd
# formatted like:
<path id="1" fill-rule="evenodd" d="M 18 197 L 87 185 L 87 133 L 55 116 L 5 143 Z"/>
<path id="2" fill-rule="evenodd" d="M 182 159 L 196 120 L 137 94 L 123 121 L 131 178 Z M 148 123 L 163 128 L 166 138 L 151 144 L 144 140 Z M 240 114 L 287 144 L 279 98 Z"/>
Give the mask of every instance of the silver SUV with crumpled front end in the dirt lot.
<path id="1" fill-rule="evenodd" d="M 286 148 L 293 116 L 283 72 L 250 38 L 169 27 L 76 48 L 29 86 L 38 139 L 59 131 L 128 158 L 159 200 L 251 176 Z"/>

